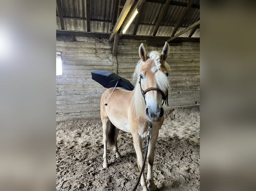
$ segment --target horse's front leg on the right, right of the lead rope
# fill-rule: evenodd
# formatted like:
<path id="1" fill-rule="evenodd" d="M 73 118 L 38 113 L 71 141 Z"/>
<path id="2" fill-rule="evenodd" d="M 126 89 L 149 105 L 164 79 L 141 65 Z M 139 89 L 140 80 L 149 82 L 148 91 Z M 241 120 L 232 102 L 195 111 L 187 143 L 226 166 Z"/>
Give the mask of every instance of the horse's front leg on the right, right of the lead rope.
<path id="1" fill-rule="evenodd" d="M 148 145 L 148 153 L 147 153 L 147 161 L 148 161 L 148 173 L 147 173 L 147 187 L 151 190 L 156 190 L 156 186 L 153 180 L 153 162 L 154 162 L 154 150 L 155 150 L 155 143 L 158 137 L 158 131 L 156 134 L 151 136 L 149 139 Z"/>

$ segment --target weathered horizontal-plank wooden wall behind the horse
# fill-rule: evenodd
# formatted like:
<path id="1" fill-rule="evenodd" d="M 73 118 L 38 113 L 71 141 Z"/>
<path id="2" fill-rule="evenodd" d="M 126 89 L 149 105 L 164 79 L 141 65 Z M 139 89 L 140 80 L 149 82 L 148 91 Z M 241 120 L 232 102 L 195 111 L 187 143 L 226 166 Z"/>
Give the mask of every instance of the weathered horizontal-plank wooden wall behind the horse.
<path id="1" fill-rule="evenodd" d="M 141 43 L 148 53 L 163 48 L 148 46 L 146 40 L 119 40 L 116 60 L 121 77 L 131 80 Z M 171 67 L 169 107 L 195 104 L 200 101 L 200 43 L 169 44 L 170 55 L 166 60 Z M 56 52 L 61 52 L 62 60 L 62 75 L 56 76 L 56 121 L 100 117 L 100 98 L 106 89 L 91 79 L 91 72 L 114 71 L 115 58 L 113 61 L 109 39 L 57 38 Z"/>

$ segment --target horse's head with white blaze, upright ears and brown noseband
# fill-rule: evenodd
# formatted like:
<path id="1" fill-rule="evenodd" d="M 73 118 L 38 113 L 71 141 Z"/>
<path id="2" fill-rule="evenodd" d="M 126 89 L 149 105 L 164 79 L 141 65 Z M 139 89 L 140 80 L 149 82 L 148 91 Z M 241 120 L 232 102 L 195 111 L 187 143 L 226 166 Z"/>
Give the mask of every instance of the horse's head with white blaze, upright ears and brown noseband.
<path id="1" fill-rule="evenodd" d="M 160 121 L 163 116 L 162 100 L 167 95 L 169 66 L 165 60 L 169 54 L 169 45 L 165 42 L 162 53 L 152 51 L 148 56 L 143 44 L 139 47 L 142 65 L 137 72 L 142 94 L 145 96 L 145 114 L 149 121 Z M 168 95 L 167 95 L 168 96 Z"/>

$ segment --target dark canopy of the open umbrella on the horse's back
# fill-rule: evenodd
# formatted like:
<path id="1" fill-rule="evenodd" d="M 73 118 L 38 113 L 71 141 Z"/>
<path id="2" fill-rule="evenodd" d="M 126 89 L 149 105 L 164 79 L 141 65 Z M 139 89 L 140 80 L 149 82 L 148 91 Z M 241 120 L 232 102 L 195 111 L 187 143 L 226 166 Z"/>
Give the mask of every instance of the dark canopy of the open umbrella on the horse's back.
<path id="1" fill-rule="evenodd" d="M 106 71 L 95 71 L 92 73 L 92 79 L 101 84 L 104 88 L 123 87 L 127 90 L 132 91 L 134 86 L 129 80 L 118 76 L 116 73 Z"/>

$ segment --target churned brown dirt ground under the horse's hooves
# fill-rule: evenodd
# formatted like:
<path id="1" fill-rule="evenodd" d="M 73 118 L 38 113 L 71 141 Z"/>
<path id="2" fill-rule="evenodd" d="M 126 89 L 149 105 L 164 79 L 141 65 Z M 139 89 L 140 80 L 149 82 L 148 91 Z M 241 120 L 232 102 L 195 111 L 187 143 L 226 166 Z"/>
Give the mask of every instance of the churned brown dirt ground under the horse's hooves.
<path id="1" fill-rule="evenodd" d="M 145 144 L 146 140 L 144 152 Z M 101 120 L 57 122 L 56 190 L 132 190 L 139 169 L 131 134 L 120 131 L 118 146 L 123 158 L 116 159 L 109 148 L 110 166 L 103 169 Z M 155 146 L 153 175 L 158 190 L 200 190 L 199 107 L 165 113 Z"/>

